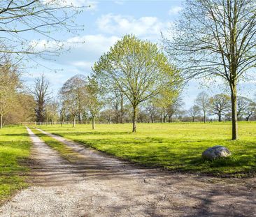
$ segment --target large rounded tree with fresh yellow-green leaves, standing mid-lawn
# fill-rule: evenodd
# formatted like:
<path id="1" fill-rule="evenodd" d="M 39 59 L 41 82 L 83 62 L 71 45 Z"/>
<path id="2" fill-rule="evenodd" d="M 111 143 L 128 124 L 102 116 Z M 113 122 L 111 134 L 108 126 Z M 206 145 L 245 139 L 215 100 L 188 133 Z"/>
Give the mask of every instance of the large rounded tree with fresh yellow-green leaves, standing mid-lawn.
<path id="1" fill-rule="evenodd" d="M 133 107 L 132 132 L 136 132 L 138 105 L 165 87 L 178 84 L 178 71 L 157 45 L 126 35 L 94 64 L 99 85 L 117 87 Z"/>

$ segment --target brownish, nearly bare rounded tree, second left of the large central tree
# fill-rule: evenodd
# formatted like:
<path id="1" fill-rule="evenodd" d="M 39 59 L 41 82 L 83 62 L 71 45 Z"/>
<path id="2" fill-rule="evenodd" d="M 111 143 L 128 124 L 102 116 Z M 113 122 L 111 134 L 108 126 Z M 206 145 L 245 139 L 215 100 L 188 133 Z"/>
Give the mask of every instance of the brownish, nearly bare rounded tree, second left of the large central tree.
<path id="1" fill-rule="evenodd" d="M 76 117 L 85 109 L 87 79 L 83 75 L 75 75 L 67 80 L 59 91 L 62 105 L 73 117 L 73 127 Z"/>

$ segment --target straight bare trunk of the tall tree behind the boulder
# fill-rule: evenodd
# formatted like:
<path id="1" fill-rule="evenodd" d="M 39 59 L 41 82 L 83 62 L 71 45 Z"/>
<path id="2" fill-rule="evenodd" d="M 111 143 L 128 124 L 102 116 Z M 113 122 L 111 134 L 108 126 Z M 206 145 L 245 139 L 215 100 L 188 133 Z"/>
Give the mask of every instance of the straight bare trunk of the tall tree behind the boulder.
<path id="1" fill-rule="evenodd" d="M 239 126 L 237 122 L 237 110 L 236 110 L 236 84 L 231 84 L 231 105 L 232 105 L 232 140 L 237 140 L 239 135 Z"/>

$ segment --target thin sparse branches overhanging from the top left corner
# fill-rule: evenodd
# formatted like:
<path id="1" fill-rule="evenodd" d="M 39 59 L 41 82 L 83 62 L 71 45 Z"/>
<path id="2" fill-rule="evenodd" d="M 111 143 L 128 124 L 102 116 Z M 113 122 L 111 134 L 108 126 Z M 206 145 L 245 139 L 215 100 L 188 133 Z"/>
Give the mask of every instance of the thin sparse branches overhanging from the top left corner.
<path id="1" fill-rule="evenodd" d="M 76 33 L 81 29 L 74 24 L 80 9 L 60 0 L 1 0 L 0 53 L 15 54 L 19 58 L 20 54 L 47 54 L 48 57 L 56 54 L 64 45 L 61 37 L 56 38 L 60 36 L 57 32 Z M 24 37 L 26 32 L 36 34 L 38 40 Z"/>

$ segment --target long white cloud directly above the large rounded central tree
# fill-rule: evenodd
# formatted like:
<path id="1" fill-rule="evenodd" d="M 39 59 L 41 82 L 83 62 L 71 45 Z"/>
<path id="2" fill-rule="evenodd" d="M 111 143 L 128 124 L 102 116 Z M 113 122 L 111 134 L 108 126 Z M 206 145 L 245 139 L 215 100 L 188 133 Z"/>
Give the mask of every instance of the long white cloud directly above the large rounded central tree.
<path id="1" fill-rule="evenodd" d="M 118 34 L 119 36 L 132 33 L 138 37 L 148 39 L 159 38 L 161 31 L 168 29 L 170 22 L 161 22 L 157 17 L 140 17 L 113 15 L 111 13 L 102 15 L 97 20 L 99 31 L 104 33 Z"/>

